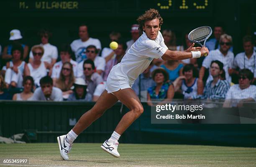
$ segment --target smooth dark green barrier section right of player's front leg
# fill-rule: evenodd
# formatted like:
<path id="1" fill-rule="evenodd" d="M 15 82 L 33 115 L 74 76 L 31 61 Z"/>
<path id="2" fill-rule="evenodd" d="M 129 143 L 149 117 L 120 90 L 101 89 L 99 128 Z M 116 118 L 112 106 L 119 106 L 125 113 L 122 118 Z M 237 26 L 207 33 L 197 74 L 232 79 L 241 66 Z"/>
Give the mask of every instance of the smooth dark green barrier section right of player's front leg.
<path id="1" fill-rule="evenodd" d="M 143 107 L 126 142 L 256 147 L 256 124 L 151 124 L 151 108 Z"/>

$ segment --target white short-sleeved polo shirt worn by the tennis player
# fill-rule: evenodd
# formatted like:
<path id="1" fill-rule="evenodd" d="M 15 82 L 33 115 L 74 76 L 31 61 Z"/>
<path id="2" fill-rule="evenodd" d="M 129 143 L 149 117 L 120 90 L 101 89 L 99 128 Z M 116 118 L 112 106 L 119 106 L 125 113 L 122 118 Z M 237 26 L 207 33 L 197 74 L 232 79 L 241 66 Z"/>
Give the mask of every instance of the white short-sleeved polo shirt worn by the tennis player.
<path id="1" fill-rule="evenodd" d="M 112 68 L 108 77 L 114 80 L 125 79 L 133 82 L 146 70 L 154 58 L 158 59 L 164 55 L 167 49 L 160 31 L 156 40 L 149 39 L 143 32 L 126 52 L 121 62 Z"/>

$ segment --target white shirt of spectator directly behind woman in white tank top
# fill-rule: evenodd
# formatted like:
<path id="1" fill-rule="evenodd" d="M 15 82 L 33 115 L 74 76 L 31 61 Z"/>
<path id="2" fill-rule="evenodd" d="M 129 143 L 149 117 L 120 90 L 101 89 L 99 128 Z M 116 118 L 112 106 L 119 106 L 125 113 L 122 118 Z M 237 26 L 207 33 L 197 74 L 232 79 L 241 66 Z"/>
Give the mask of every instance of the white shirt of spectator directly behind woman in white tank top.
<path id="1" fill-rule="evenodd" d="M 43 45 L 40 44 L 42 47 L 44 47 L 44 55 L 41 58 L 42 62 L 48 62 L 51 64 L 51 59 L 57 59 L 58 58 L 58 49 L 56 46 L 51 45 L 49 43 Z M 29 53 L 29 58 L 34 59 L 32 50 Z"/>

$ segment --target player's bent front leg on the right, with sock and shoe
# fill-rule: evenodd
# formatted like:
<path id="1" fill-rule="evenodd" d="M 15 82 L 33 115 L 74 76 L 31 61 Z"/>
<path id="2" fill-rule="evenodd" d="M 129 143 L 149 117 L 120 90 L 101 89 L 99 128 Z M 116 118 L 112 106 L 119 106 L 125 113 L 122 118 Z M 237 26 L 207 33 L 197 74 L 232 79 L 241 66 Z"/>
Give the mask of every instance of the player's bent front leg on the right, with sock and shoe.
<path id="1" fill-rule="evenodd" d="M 113 94 L 120 100 L 120 102 L 128 107 L 130 111 L 122 117 L 110 139 L 106 140 L 101 148 L 114 157 L 120 157 L 120 154 L 117 151 L 119 144 L 118 139 L 120 135 L 122 135 L 123 132 L 143 113 L 143 107 L 137 95 L 131 88 L 118 90 L 117 92 L 113 92 Z"/>

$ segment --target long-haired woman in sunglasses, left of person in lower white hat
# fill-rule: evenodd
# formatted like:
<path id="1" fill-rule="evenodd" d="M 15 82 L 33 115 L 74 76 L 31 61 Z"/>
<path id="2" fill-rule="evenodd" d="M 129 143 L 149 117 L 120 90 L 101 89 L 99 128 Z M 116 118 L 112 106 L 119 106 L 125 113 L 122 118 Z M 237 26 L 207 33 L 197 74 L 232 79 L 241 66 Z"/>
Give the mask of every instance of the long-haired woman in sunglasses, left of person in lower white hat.
<path id="1" fill-rule="evenodd" d="M 69 95 L 73 93 L 71 87 L 74 81 L 73 66 L 70 62 L 65 62 L 61 68 L 59 79 L 56 81 L 56 87 L 61 89 L 64 100 L 67 100 Z"/>

